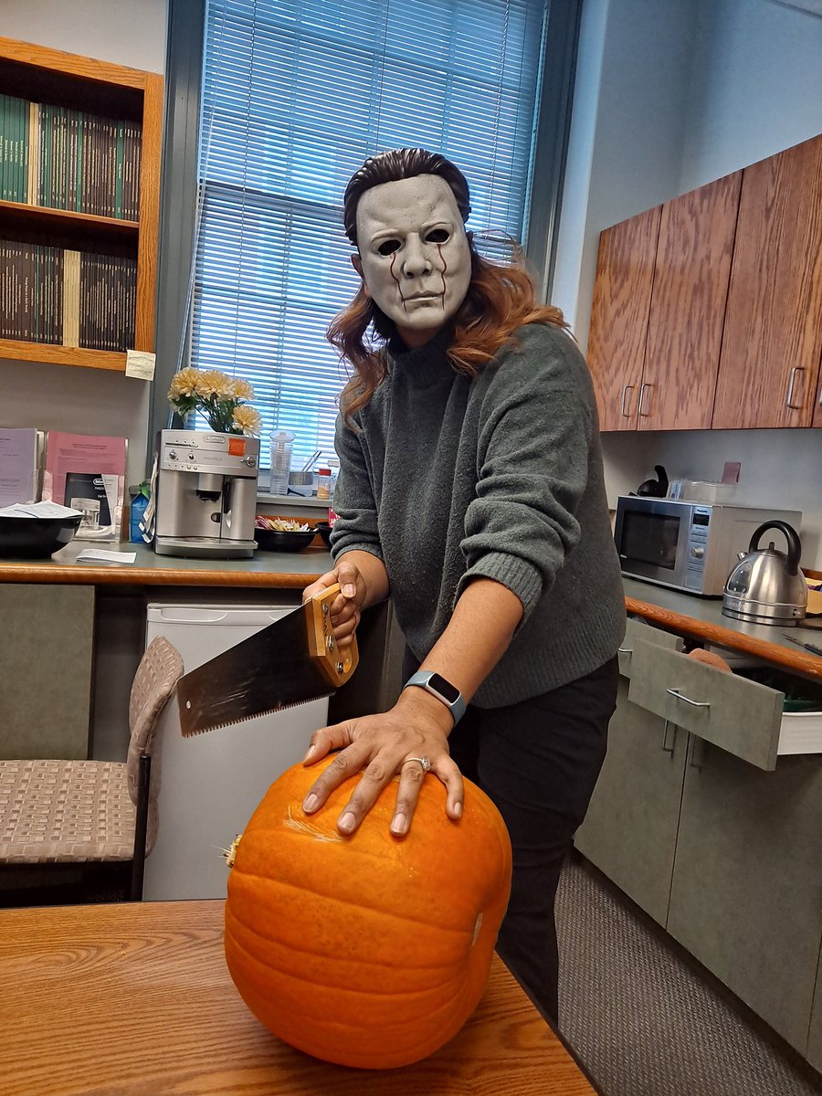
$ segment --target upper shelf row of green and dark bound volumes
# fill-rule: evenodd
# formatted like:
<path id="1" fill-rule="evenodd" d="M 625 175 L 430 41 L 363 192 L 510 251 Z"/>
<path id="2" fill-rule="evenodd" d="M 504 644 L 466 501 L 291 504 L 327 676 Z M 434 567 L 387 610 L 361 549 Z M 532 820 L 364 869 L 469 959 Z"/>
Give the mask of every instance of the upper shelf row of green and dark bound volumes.
<path id="1" fill-rule="evenodd" d="M 141 127 L 0 95 L 0 198 L 137 220 Z"/>

